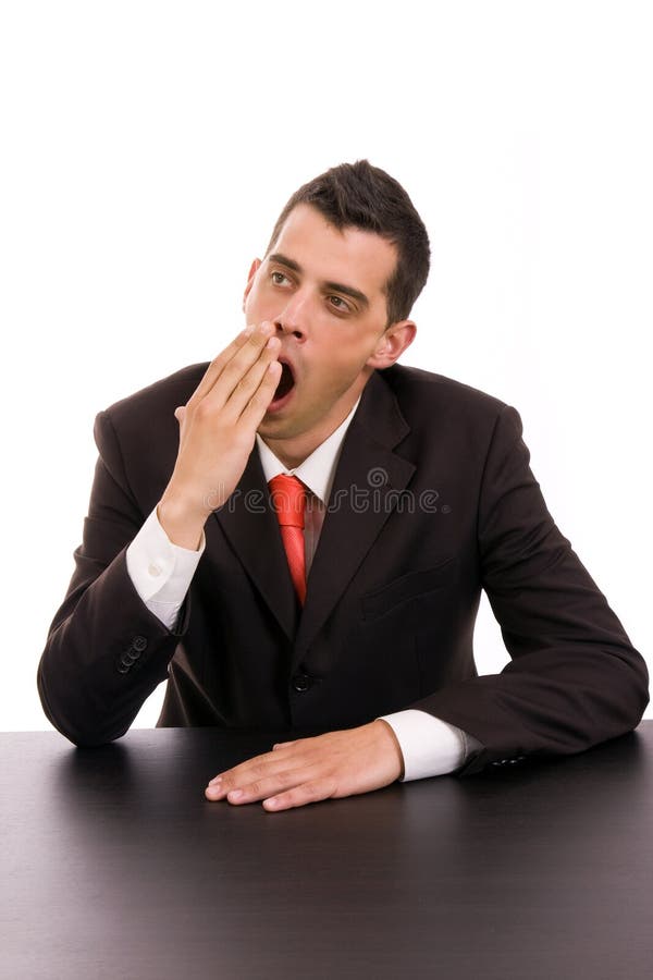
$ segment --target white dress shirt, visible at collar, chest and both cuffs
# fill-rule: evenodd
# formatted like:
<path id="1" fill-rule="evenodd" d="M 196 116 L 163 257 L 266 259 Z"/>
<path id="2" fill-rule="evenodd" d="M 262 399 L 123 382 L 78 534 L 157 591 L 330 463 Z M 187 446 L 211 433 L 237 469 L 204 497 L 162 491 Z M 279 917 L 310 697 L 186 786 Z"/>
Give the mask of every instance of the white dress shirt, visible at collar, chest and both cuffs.
<path id="1" fill-rule="evenodd" d="M 342 425 L 295 469 L 286 469 L 261 437 L 256 437 L 266 480 L 270 482 L 283 473 L 296 476 L 310 491 L 305 527 L 307 577 L 343 440 L 357 407 L 358 402 Z M 173 544 L 159 524 L 155 509 L 127 549 L 127 572 L 134 587 L 168 629 L 176 622 L 205 544 L 204 535 L 197 551 Z M 382 719 L 392 727 L 402 749 L 405 781 L 453 772 L 481 747 L 473 736 L 426 711 L 408 709 L 384 714 Z"/>

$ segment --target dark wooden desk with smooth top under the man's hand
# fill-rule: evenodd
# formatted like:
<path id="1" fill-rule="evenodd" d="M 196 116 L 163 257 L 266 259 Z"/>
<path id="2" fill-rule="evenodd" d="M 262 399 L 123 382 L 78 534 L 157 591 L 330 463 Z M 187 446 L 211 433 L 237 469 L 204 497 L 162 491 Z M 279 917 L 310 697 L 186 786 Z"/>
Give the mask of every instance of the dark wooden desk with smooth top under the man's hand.
<path id="1" fill-rule="evenodd" d="M 653 722 L 564 761 L 286 813 L 205 800 L 270 743 L 0 736 L 0 976 L 653 976 Z"/>

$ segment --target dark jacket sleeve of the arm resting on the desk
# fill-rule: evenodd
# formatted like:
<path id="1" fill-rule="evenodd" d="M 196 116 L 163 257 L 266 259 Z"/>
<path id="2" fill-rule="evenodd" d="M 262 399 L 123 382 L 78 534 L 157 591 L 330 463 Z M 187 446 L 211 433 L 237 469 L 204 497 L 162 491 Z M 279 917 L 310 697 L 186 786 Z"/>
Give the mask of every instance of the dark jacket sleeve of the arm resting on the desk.
<path id="1" fill-rule="evenodd" d="M 484 746 L 464 773 L 590 748 L 631 731 L 649 700 L 644 660 L 555 526 L 529 460 L 519 415 L 505 406 L 485 460 L 477 540 L 512 661 L 411 706 Z"/>

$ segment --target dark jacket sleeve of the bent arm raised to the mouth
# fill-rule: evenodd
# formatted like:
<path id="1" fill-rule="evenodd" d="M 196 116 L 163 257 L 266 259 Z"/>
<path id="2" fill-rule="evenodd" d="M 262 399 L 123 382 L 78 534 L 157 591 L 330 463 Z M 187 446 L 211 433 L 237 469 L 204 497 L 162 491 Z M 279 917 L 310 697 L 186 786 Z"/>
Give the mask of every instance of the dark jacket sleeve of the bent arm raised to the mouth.
<path id="1" fill-rule="evenodd" d="M 128 486 L 107 413 L 96 419 L 99 450 L 75 571 L 50 626 L 38 690 L 52 724 L 76 745 L 99 745 L 127 731 L 146 698 L 167 679 L 184 635 L 168 630 L 139 598 L 125 552 L 145 517 Z"/>

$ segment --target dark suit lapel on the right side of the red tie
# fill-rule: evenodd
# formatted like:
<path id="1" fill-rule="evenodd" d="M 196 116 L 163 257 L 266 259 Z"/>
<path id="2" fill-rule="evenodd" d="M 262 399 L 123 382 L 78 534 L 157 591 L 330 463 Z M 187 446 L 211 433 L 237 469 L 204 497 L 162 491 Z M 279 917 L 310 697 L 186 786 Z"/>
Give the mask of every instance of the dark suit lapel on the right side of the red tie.
<path id="1" fill-rule="evenodd" d="M 392 452 L 409 432 L 385 381 L 372 375 L 347 430 L 296 641 L 301 659 L 378 538 L 415 466 Z"/>

